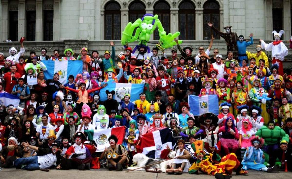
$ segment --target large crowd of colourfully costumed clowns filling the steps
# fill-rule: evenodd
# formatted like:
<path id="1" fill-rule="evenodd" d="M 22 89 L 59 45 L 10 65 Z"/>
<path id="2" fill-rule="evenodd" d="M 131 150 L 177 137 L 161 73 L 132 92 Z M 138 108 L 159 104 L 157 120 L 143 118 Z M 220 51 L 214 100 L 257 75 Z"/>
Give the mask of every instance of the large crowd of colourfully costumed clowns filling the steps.
<path id="1" fill-rule="evenodd" d="M 232 171 L 244 175 L 248 169 L 292 171 L 292 73 L 283 72 L 288 53 L 280 40 L 283 31 L 274 31 L 270 44 L 260 39 L 253 54 L 246 51 L 253 34 L 246 40 L 230 26 L 223 33 L 208 25 L 226 40 L 226 58 L 218 49 L 210 54 L 213 37 L 208 49 L 177 45 L 169 57 L 157 47 L 126 45 L 125 53 L 116 58 L 114 42 L 104 58 L 95 50 L 89 55 L 86 48 L 78 57 L 71 49 L 63 57 L 58 50 L 48 56 L 42 48 L 40 55 L 32 51 L 26 59 L 22 41 L 20 52 L 12 47 L 10 56 L 0 53 L 0 93 L 20 97 L 17 107 L 0 106 L 2 167 L 85 170 L 99 168 L 98 159 L 107 158 L 107 168 L 119 171 L 141 152 L 143 135 L 171 128 L 181 140 L 167 173 L 201 171 L 225 178 Z M 263 49 L 272 51 L 271 66 Z M 50 70 L 42 63 L 45 60 L 81 60 L 83 73 L 70 75 L 66 84 L 58 81 L 58 73 L 45 80 L 43 71 Z M 37 77 L 37 85 L 27 84 L 32 77 Z M 107 90 L 107 99 L 100 101 L 100 89 L 109 82 L 145 84 L 144 92 L 139 100 L 125 94 L 117 102 L 115 91 Z M 188 105 L 190 94 L 217 95 L 219 115 L 194 116 Z M 112 135 L 110 147 L 102 153 L 95 152 L 96 144 L 84 134 L 119 126 L 126 131 L 123 144 Z"/>

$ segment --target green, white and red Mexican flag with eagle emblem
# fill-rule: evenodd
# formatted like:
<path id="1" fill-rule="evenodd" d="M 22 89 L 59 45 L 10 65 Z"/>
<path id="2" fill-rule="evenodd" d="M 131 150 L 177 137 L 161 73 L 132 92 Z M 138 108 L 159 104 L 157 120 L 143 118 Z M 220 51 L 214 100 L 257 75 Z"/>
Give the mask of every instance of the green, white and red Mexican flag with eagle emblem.
<path id="1" fill-rule="evenodd" d="M 122 144 L 125 137 L 124 126 L 111 129 L 99 129 L 99 130 L 84 130 L 89 141 L 95 141 L 97 144 L 96 152 L 103 152 L 105 147 L 109 147 L 107 138 L 111 135 L 115 135 L 118 138 L 117 144 Z"/>

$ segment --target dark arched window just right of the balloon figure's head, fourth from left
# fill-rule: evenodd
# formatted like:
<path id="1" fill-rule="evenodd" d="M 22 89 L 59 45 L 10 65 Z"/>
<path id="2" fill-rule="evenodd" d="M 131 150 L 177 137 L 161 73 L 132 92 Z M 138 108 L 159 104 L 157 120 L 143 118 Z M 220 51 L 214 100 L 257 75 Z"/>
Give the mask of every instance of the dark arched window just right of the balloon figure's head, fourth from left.
<path id="1" fill-rule="evenodd" d="M 195 6 L 191 1 L 178 6 L 178 22 L 180 39 L 195 39 Z"/>

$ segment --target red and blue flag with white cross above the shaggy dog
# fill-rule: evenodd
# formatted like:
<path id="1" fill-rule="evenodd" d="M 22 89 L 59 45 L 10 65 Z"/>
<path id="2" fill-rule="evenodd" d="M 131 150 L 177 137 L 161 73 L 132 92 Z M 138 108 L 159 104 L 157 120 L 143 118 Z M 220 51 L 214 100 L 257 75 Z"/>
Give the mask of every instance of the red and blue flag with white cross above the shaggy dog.
<path id="1" fill-rule="evenodd" d="M 142 154 L 151 158 L 167 159 L 169 152 L 166 149 L 166 145 L 172 149 L 175 145 L 175 138 L 172 136 L 172 130 L 166 128 L 144 134 L 140 143 L 140 149 L 143 150 Z"/>

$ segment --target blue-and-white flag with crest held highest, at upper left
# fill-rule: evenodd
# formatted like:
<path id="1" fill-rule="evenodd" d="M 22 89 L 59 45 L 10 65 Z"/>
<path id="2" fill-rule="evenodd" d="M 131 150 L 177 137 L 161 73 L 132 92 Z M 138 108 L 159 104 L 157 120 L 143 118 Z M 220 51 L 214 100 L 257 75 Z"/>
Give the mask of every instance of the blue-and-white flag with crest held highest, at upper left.
<path id="1" fill-rule="evenodd" d="M 45 80 L 53 78 L 54 73 L 59 73 L 59 82 L 65 84 L 69 75 L 76 77 L 78 73 L 82 73 L 82 60 L 64 60 L 64 61 L 41 61 L 47 67 L 44 71 Z"/>

